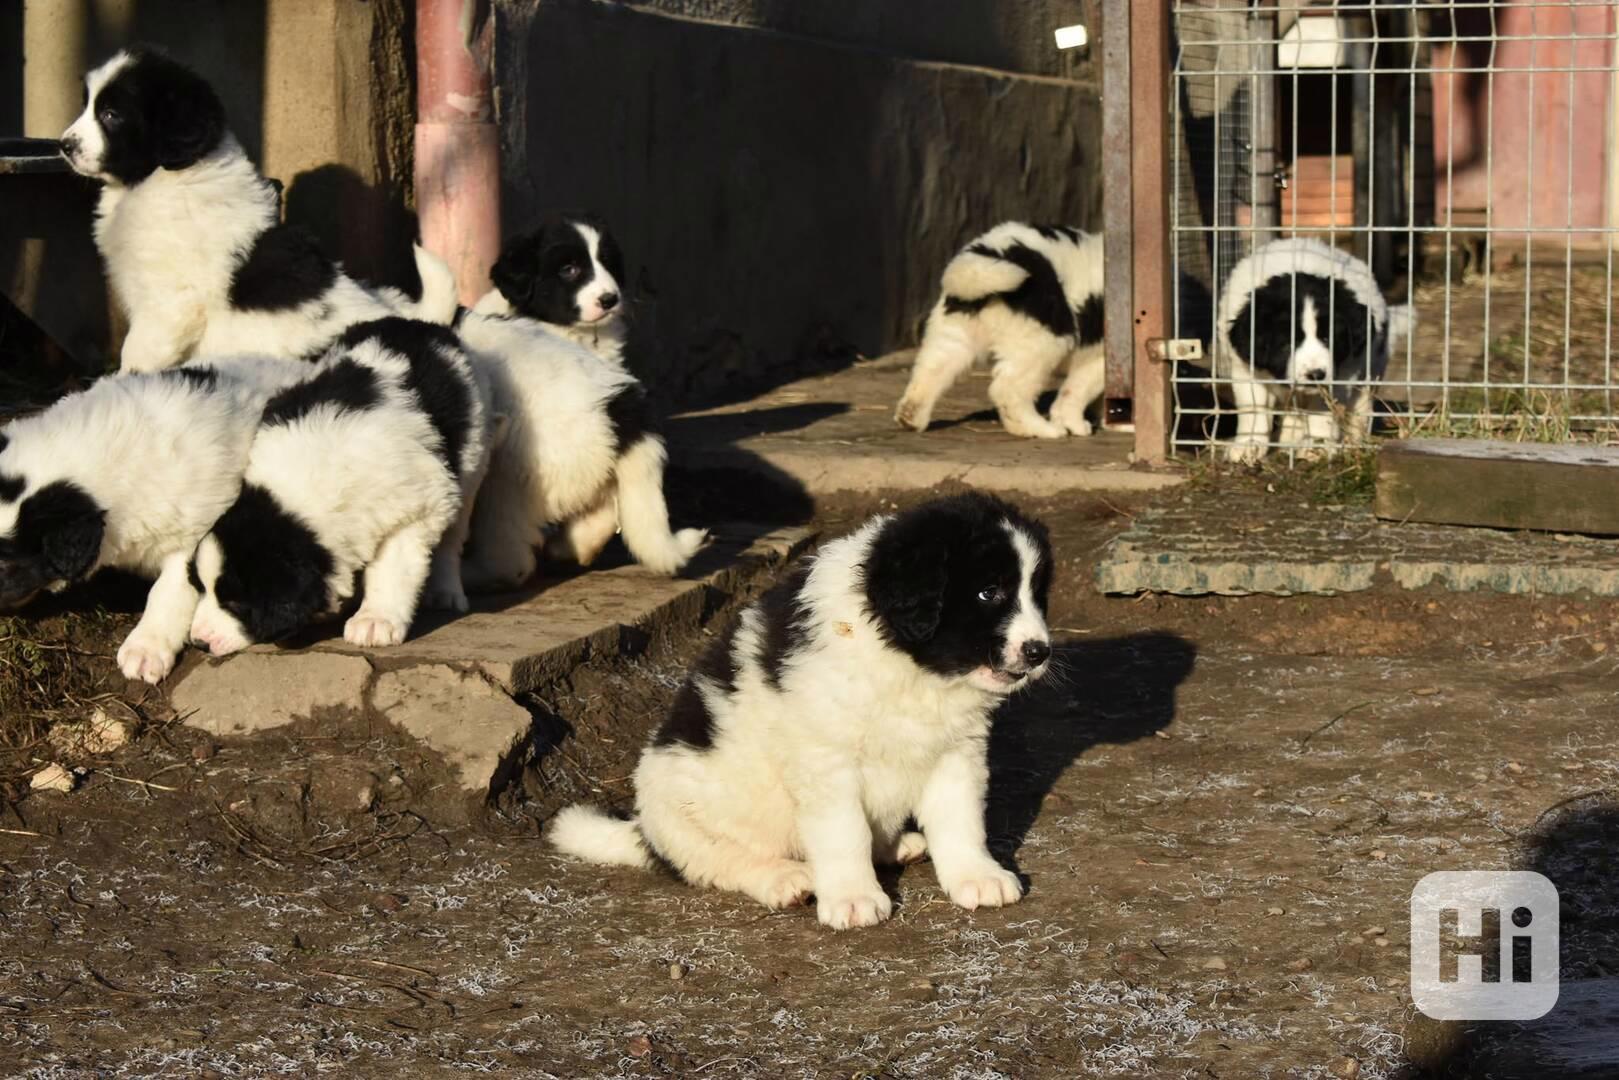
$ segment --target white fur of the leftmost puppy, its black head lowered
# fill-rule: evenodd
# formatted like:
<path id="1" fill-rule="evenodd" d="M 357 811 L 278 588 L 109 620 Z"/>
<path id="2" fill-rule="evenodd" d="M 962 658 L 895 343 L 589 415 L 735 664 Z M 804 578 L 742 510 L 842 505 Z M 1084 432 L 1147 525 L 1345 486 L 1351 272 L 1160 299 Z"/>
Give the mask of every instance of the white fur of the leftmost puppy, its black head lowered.
<path id="1" fill-rule="evenodd" d="M 8 424 L 0 452 L 0 473 L 21 476 L 28 491 L 68 479 L 100 504 L 94 568 L 155 578 L 118 648 L 120 670 L 151 683 L 173 669 L 191 627 L 198 597 L 186 562 L 236 499 L 264 400 L 293 374 L 270 359 L 207 366 L 220 372 L 212 389 L 173 374 L 102 379 Z M 0 504 L 0 534 L 13 529 L 19 502 Z"/>

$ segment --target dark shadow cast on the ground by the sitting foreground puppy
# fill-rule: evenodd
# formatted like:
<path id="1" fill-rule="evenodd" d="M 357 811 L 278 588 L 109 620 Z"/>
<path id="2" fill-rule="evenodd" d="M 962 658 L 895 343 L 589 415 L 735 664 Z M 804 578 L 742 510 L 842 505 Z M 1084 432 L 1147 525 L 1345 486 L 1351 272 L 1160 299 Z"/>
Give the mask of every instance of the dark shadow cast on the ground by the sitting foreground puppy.
<path id="1" fill-rule="evenodd" d="M 1086 750 L 1167 727 L 1196 656 L 1192 641 L 1162 631 L 1060 641 L 1052 674 L 1007 703 L 991 732 L 991 848 L 1015 863 L 1046 795 Z"/>

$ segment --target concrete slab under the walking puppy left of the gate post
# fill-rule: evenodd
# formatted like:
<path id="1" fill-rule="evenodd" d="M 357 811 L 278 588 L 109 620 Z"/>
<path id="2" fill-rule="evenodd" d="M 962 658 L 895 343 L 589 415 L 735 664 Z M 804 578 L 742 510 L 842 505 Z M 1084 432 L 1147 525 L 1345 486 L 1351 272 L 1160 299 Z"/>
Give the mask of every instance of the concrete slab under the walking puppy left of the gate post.
<path id="1" fill-rule="evenodd" d="M 686 471 L 732 471 L 801 487 L 918 491 L 947 481 L 984 491 L 1051 495 L 1072 491 L 1158 491 L 1180 484 L 1175 470 L 1130 465 L 1133 436 L 1017 439 L 1001 429 L 988 372 L 962 376 L 923 434 L 894 423 L 911 353 L 800 379 L 748 402 L 669 421 L 670 460 Z"/>

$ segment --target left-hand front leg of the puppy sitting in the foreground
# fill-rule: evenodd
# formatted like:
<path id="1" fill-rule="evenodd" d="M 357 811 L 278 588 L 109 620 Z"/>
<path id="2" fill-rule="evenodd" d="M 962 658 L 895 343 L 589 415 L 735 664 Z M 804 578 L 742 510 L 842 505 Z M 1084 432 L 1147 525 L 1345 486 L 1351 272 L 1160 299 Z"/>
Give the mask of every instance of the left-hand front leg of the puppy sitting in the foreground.
<path id="1" fill-rule="evenodd" d="M 871 861 L 871 823 L 853 766 L 810 769 L 798 792 L 798 839 L 814 878 L 816 916 L 832 929 L 876 926 L 894 910 Z"/>

